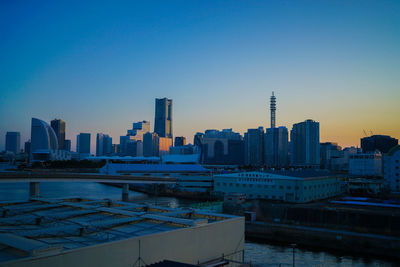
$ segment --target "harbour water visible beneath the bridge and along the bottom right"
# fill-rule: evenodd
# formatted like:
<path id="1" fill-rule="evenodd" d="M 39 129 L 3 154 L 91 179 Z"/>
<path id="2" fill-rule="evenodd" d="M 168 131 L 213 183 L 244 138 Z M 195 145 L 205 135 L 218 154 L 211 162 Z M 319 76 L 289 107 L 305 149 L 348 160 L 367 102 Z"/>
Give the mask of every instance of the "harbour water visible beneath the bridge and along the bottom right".
<path id="1" fill-rule="evenodd" d="M 122 189 L 88 182 L 43 182 L 40 183 L 40 196 L 45 198 L 81 197 L 96 199 L 121 200 Z M 0 201 L 26 200 L 29 198 L 28 183 L 0 183 Z M 150 197 L 146 194 L 130 191 L 129 199 L 135 202 L 150 202 L 167 205 L 172 208 L 192 205 L 193 201 L 180 200 L 172 197 Z M 292 266 L 293 250 L 288 246 L 258 244 L 246 242 L 245 260 L 256 266 Z M 333 254 L 327 251 L 311 251 L 296 248 L 296 266 L 396 266 L 387 260 L 352 257 Z"/>

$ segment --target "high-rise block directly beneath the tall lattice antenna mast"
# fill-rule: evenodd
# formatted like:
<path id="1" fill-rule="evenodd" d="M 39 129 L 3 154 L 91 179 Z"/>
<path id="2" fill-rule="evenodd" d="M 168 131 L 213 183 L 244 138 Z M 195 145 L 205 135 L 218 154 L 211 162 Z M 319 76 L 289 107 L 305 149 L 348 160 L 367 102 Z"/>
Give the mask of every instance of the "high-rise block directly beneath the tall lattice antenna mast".
<path id="1" fill-rule="evenodd" d="M 288 164 L 289 141 L 286 127 L 269 128 L 264 139 L 265 165 L 268 167 L 285 167 Z"/>

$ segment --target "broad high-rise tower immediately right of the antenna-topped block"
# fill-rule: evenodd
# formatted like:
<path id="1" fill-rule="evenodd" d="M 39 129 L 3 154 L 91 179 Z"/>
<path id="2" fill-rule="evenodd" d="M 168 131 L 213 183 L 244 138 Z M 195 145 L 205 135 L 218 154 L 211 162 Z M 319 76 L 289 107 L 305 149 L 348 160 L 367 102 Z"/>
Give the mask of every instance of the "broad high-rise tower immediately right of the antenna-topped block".
<path id="1" fill-rule="evenodd" d="M 290 132 L 290 159 L 294 166 L 320 164 L 319 122 L 306 120 L 293 124 Z"/>

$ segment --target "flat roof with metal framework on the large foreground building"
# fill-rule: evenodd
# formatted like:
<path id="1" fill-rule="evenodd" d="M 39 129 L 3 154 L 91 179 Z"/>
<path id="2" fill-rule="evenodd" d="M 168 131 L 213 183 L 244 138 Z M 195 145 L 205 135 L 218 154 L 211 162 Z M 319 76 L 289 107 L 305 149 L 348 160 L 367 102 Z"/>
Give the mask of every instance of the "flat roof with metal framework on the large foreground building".
<path id="1" fill-rule="evenodd" d="M 0 202 L 0 264 L 235 216 L 107 199 Z"/>

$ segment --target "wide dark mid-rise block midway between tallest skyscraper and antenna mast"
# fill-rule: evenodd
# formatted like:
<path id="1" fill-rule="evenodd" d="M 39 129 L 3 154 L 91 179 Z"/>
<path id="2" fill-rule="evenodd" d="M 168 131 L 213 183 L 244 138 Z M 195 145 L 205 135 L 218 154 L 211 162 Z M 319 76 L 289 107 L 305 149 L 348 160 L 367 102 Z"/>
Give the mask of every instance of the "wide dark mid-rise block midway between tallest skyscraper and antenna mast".
<path id="1" fill-rule="evenodd" d="M 209 165 L 243 165 L 243 137 L 232 129 L 206 130 L 195 135 L 195 144 L 200 144 L 201 162 Z"/>

